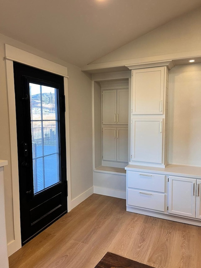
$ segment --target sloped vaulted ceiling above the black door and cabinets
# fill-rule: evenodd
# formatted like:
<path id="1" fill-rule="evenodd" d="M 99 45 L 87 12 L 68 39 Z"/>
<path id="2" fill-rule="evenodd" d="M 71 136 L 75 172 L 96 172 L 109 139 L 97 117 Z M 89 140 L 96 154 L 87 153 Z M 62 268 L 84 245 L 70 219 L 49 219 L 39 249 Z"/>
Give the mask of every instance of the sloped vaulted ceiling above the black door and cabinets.
<path id="1" fill-rule="evenodd" d="M 0 33 L 84 66 L 200 0 L 0 0 Z"/>

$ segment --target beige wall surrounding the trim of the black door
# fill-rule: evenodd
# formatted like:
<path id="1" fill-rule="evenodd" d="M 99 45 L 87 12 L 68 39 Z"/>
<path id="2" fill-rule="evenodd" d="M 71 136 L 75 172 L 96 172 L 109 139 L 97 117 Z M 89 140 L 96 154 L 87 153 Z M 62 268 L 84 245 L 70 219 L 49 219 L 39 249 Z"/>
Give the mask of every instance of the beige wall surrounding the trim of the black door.
<path id="1" fill-rule="evenodd" d="M 71 198 L 93 186 L 92 172 L 92 109 L 91 109 L 91 78 L 80 71 L 79 67 L 66 63 L 36 50 L 33 47 L 0 35 L 0 159 L 8 160 L 4 169 L 5 209 L 8 243 L 14 239 L 12 178 L 10 166 L 10 140 L 8 122 L 8 100 L 6 91 L 5 63 L 3 61 L 4 43 L 24 51 L 46 58 L 68 68 L 69 127 L 71 154 Z M 67 52 L 68 53 L 68 52 Z M 79 161 L 79 164 L 78 164 Z"/>

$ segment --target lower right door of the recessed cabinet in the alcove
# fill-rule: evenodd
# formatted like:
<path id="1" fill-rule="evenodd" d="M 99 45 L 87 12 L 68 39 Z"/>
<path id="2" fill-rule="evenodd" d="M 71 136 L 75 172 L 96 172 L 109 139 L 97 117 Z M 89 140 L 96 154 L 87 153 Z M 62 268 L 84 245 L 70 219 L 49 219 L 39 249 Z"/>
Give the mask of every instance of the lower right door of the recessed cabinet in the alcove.
<path id="1" fill-rule="evenodd" d="M 128 162 L 128 128 L 117 128 L 117 161 Z"/>

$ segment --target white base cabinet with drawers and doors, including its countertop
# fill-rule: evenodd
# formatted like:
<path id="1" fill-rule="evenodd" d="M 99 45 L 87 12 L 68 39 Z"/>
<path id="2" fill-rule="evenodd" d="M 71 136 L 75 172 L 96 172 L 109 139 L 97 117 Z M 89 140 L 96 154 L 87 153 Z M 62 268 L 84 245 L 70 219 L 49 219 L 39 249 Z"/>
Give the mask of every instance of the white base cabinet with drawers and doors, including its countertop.
<path id="1" fill-rule="evenodd" d="M 201 167 L 129 165 L 125 169 L 127 211 L 201 226 Z"/>

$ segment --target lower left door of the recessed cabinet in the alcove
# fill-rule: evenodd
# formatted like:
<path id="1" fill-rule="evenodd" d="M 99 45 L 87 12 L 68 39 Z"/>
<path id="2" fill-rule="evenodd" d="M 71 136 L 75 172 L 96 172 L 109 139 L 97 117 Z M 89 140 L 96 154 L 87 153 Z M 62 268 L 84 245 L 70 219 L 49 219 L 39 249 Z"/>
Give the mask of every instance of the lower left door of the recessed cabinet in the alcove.
<path id="1" fill-rule="evenodd" d="M 103 160 L 117 161 L 117 128 L 103 127 Z"/>

